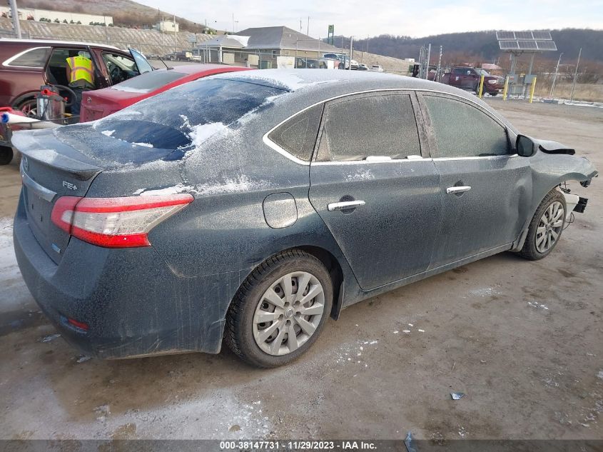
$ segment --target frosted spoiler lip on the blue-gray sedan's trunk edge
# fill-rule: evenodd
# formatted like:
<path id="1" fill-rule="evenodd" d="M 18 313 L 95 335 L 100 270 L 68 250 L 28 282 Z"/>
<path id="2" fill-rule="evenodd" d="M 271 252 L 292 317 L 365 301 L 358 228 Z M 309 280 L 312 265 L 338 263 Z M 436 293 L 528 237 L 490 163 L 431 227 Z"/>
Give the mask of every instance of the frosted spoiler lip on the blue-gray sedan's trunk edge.
<path id="1" fill-rule="evenodd" d="M 91 179 L 103 171 L 102 168 L 91 164 L 88 158 L 76 149 L 57 140 L 52 134 L 52 129 L 16 131 L 12 136 L 11 143 L 27 159 L 34 159 L 48 166 L 56 166 L 81 181 Z"/>

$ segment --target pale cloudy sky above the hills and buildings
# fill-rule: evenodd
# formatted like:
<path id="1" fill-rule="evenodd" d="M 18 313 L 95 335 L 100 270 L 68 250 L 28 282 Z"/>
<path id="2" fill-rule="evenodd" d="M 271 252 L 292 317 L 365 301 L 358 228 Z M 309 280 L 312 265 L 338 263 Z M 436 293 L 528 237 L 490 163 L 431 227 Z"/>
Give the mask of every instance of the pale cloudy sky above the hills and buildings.
<path id="1" fill-rule="evenodd" d="M 136 0 L 193 22 L 235 31 L 285 25 L 310 36 L 358 39 L 379 34 L 412 37 L 457 31 L 603 29 L 603 0 Z"/>

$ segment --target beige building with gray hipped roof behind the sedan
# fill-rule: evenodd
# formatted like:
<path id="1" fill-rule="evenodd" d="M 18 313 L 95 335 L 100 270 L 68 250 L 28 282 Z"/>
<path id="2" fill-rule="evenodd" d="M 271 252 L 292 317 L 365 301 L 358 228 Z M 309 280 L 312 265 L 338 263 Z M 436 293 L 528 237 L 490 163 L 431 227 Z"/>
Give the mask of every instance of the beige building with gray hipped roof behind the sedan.
<path id="1" fill-rule="evenodd" d="M 293 66 L 295 59 L 318 60 L 323 54 L 340 52 L 338 47 L 286 26 L 264 26 L 218 36 L 203 42 L 198 49 L 206 56 L 204 61 L 248 63 L 261 69 L 284 67 L 285 63 Z"/>

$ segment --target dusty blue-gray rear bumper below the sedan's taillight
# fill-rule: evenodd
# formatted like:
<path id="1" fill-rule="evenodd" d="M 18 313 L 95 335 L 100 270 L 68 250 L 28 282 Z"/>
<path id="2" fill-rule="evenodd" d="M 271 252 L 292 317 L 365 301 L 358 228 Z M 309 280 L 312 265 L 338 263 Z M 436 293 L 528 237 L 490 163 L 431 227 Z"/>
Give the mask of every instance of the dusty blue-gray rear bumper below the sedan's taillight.
<path id="1" fill-rule="evenodd" d="M 84 353 L 130 358 L 220 351 L 238 272 L 182 278 L 153 247 L 99 248 L 73 237 L 57 265 L 31 232 L 22 196 L 13 234 L 17 262 L 36 303 Z"/>

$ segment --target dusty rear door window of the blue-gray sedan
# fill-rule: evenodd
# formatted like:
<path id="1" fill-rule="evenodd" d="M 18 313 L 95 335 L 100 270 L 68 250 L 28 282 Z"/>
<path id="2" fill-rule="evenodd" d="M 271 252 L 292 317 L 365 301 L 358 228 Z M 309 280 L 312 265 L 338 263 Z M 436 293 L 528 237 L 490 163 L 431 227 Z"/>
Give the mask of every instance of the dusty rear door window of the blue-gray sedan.
<path id="1" fill-rule="evenodd" d="M 327 106 L 325 115 L 318 161 L 420 155 L 417 122 L 408 94 L 338 101 Z"/>

